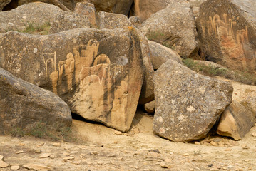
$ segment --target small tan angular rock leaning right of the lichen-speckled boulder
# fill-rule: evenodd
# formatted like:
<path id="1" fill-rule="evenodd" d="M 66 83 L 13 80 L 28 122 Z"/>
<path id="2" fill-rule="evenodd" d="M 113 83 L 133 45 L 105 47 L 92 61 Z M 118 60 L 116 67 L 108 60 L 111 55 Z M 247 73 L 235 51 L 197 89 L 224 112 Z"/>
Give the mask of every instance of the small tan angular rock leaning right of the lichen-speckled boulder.
<path id="1" fill-rule="evenodd" d="M 217 134 L 241 140 L 256 121 L 255 115 L 240 103 L 233 101 L 222 113 Z"/>

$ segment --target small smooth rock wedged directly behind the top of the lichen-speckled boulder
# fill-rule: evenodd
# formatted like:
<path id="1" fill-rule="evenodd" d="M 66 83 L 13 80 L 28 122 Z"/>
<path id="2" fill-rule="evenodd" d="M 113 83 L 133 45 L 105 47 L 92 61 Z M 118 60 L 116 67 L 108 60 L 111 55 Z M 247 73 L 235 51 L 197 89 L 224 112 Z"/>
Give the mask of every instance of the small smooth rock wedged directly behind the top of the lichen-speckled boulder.
<path id="1" fill-rule="evenodd" d="M 175 51 L 167 48 L 159 43 L 155 43 L 153 41 L 148 41 L 150 53 L 151 53 L 151 61 L 153 64 L 153 68 L 157 70 L 163 63 L 172 59 L 173 61 L 177 61 L 182 64 L 180 56 Z"/>

